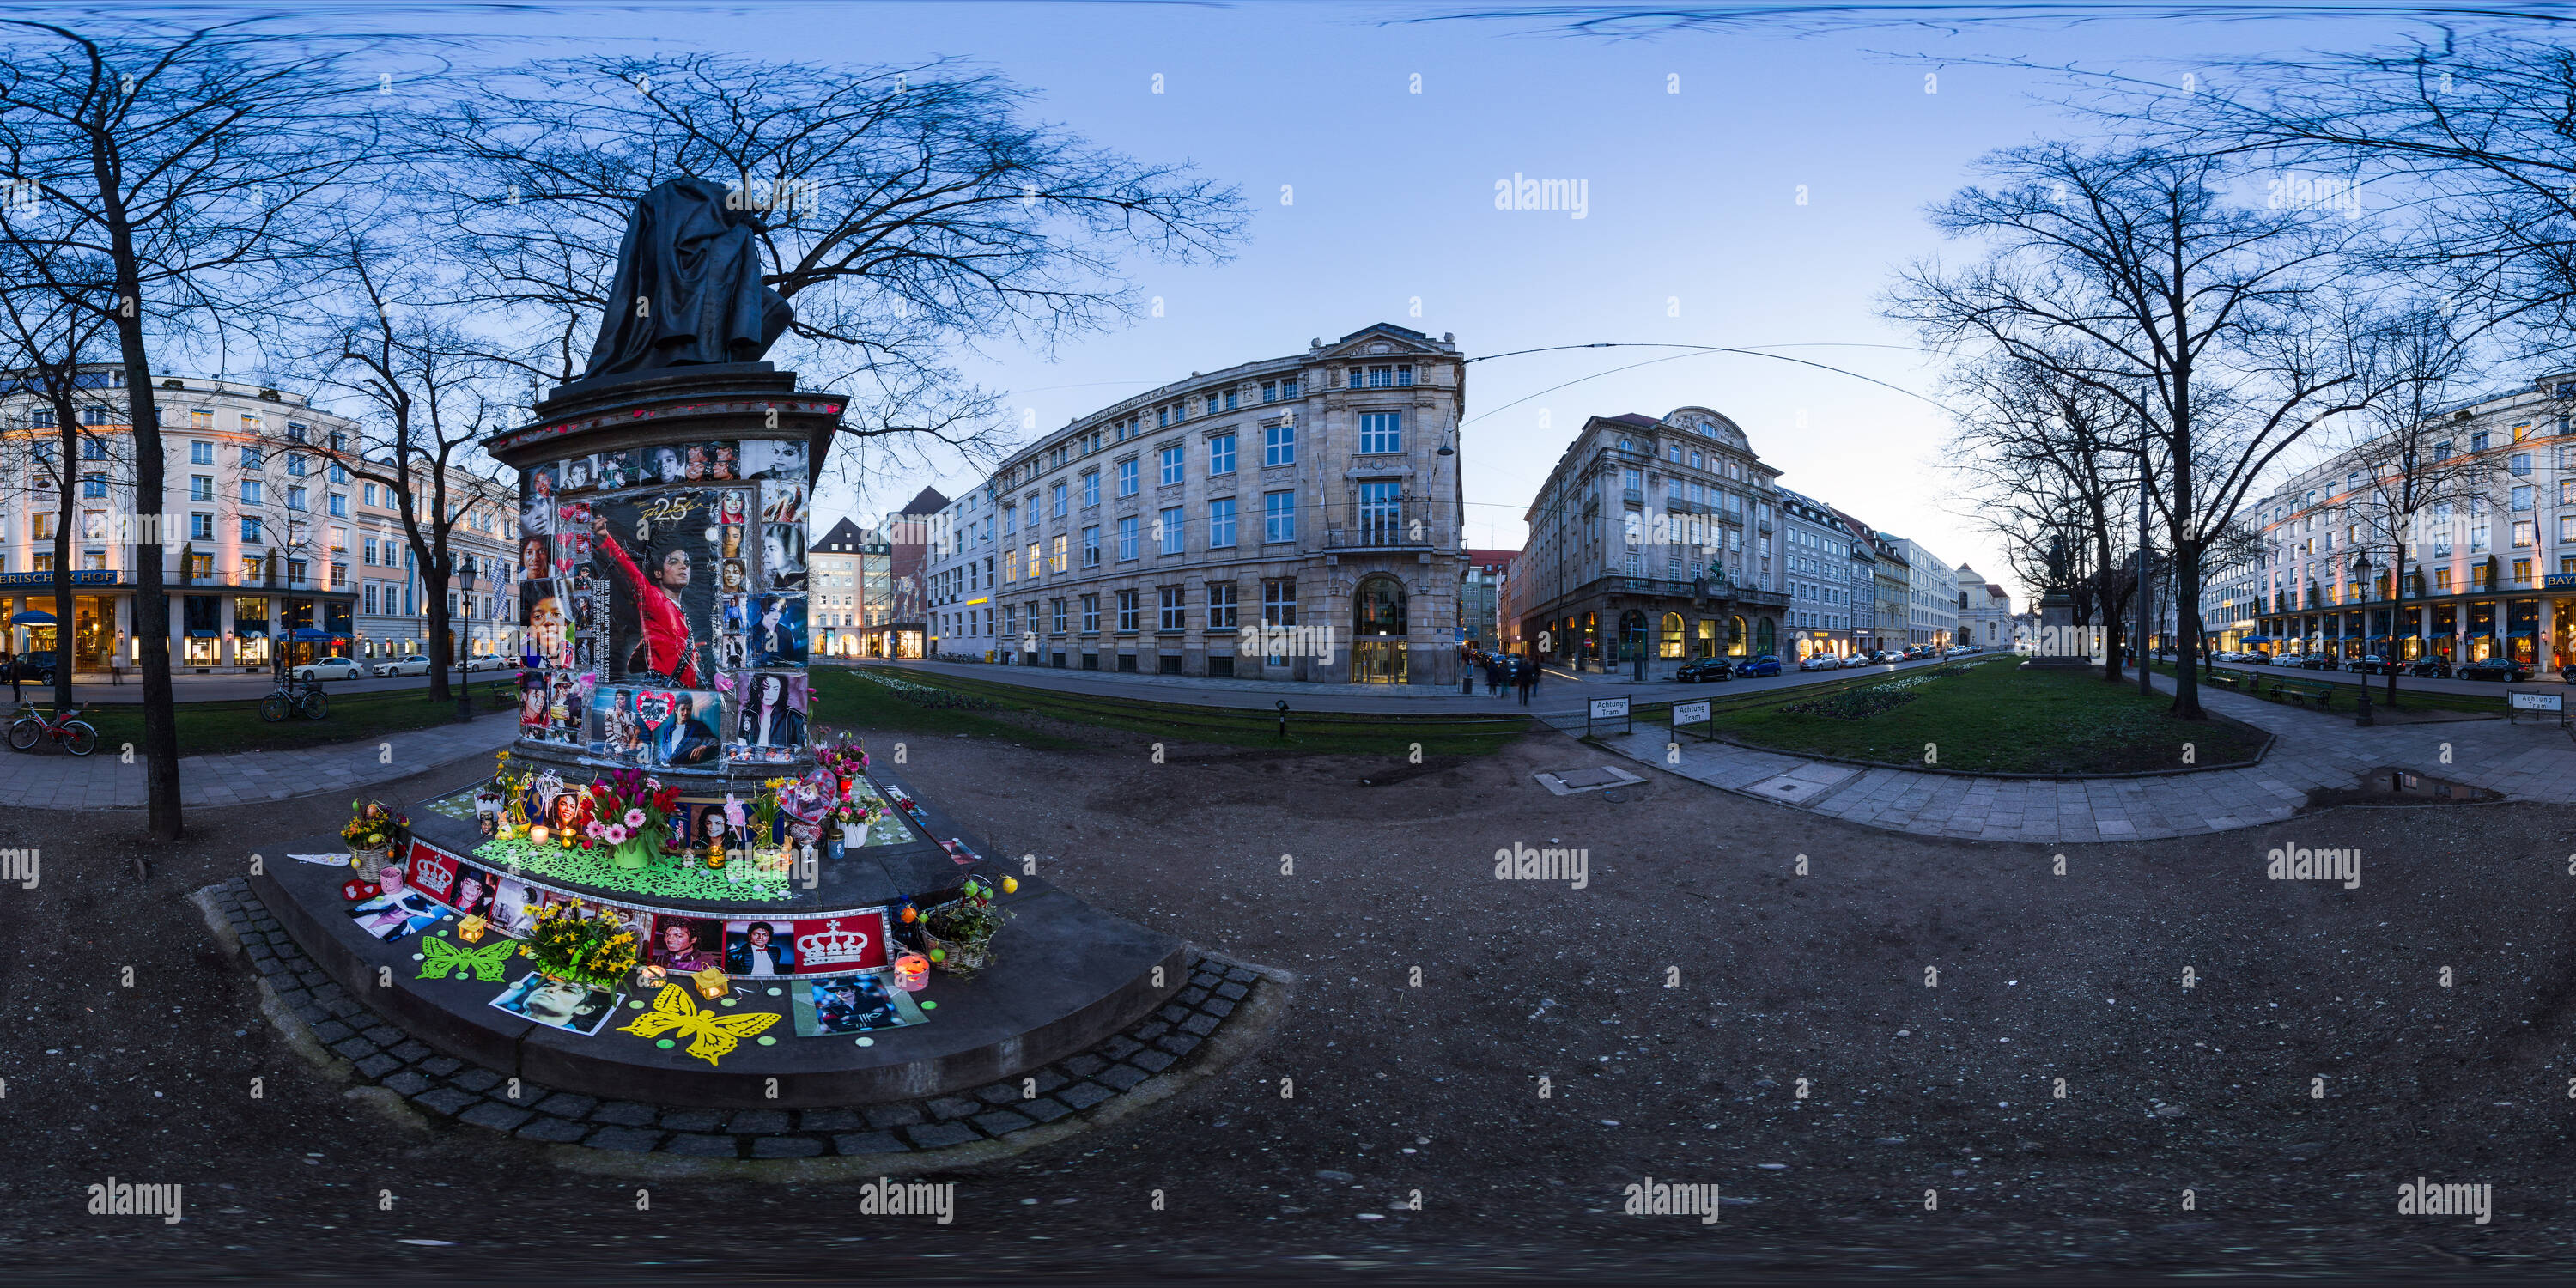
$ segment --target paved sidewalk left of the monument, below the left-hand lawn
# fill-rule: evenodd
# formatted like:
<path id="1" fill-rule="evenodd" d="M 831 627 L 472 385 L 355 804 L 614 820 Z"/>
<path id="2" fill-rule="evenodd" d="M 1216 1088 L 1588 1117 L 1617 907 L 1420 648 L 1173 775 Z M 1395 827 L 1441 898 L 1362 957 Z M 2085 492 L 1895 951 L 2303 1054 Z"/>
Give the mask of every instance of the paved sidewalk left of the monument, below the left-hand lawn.
<path id="1" fill-rule="evenodd" d="M 515 737 L 518 711 L 502 711 L 474 724 L 440 724 L 294 752 L 183 755 L 178 799 L 180 806 L 237 806 L 340 793 L 492 755 Z M 126 765 L 113 747 L 98 747 L 90 757 L 0 750 L 0 806 L 88 811 L 144 809 L 144 762 L 137 757 Z"/>

